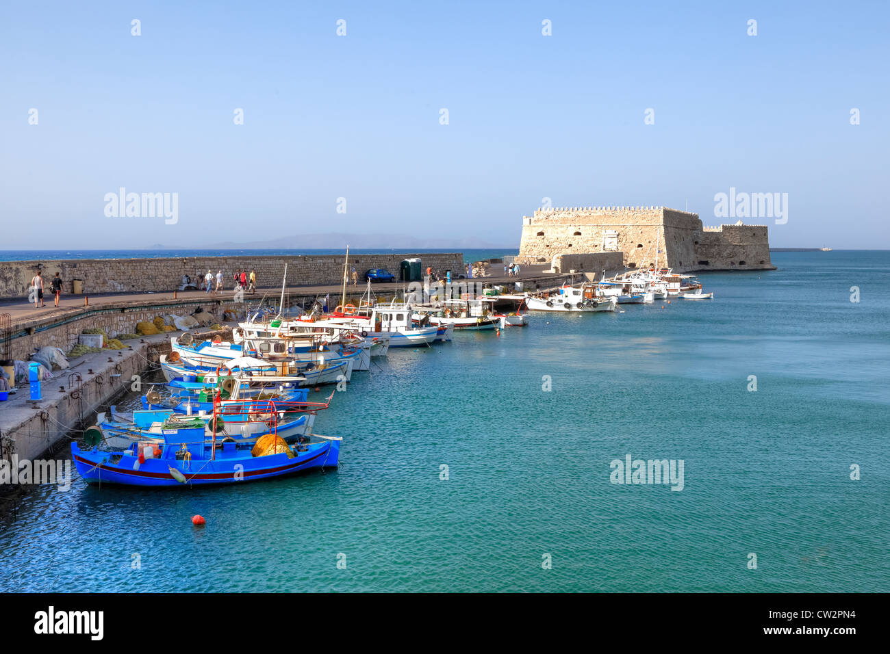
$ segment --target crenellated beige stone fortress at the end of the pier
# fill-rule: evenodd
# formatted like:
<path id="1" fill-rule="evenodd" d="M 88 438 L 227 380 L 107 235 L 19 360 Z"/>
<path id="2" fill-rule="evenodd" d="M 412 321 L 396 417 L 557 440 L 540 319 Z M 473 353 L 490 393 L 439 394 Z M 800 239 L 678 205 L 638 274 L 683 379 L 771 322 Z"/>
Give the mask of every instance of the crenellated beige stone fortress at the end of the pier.
<path id="1" fill-rule="evenodd" d="M 522 216 L 515 261 L 550 263 L 562 272 L 598 271 L 619 254 L 622 265 L 631 269 L 775 269 L 765 225 L 739 221 L 705 227 L 699 214 L 665 206 L 539 208 L 531 217 Z"/>

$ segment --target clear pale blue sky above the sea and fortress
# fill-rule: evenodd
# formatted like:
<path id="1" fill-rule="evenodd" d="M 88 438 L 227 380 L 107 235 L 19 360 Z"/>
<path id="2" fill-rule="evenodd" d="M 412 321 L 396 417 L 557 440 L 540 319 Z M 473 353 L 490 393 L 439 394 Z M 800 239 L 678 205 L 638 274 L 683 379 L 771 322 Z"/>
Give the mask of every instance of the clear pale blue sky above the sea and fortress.
<path id="1" fill-rule="evenodd" d="M 748 221 L 773 246 L 890 248 L 890 3 L 0 11 L 0 249 L 405 230 L 516 247 L 545 197 L 688 201 L 716 224 L 730 187 L 789 194 L 787 224 Z M 106 217 L 121 186 L 177 192 L 177 224 Z"/>

